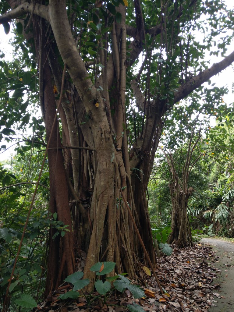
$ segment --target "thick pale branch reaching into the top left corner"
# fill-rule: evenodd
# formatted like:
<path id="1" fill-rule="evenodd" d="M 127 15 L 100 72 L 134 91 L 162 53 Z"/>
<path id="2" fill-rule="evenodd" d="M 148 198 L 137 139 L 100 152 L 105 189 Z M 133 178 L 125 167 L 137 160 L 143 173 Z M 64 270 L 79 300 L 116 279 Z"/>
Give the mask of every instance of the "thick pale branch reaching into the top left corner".
<path id="1" fill-rule="evenodd" d="M 46 5 L 38 4 L 36 3 L 33 4 L 33 2 L 22 2 L 18 7 L 15 9 L 6 12 L 2 16 L 0 16 L 0 24 L 7 23 L 11 21 L 14 18 L 20 17 L 24 15 L 25 13 L 32 13 L 36 14 L 38 16 L 43 17 L 46 19 L 46 21 L 50 21 L 49 17 L 49 8 Z"/>

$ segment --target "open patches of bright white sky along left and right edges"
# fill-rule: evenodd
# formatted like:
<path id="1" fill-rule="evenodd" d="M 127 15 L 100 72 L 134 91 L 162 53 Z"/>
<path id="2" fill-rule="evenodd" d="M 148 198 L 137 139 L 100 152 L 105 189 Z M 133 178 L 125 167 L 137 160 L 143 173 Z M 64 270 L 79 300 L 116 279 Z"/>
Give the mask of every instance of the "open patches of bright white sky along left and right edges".
<path id="1" fill-rule="evenodd" d="M 225 0 L 226 5 L 228 6 L 229 9 L 234 10 L 234 2 L 230 0 Z M 200 36 L 200 34 L 198 34 Z M 12 46 L 9 44 L 9 41 L 12 39 L 12 33 L 9 33 L 8 35 L 5 34 L 3 26 L 0 25 L 0 47 L 1 51 L 5 53 L 5 60 L 6 61 L 11 61 L 12 60 Z M 201 36 L 201 41 L 203 37 Z M 234 45 L 233 45 L 234 46 Z M 226 55 L 231 53 L 233 51 L 233 46 L 230 45 L 228 47 L 228 51 Z M 216 63 L 221 61 L 222 57 L 221 56 L 209 56 L 209 51 L 207 51 L 207 56 L 205 57 L 205 60 L 210 60 L 210 66 L 212 63 Z M 227 87 L 229 93 L 227 95 L 224 95 L 224 102 L 230 105 L 234 102 L 234 95 L 232 93 L 232 85 L 234 84 L 234 64 L 226 68 L 224 71 L 219 73 L 218 75 L 214 76 L 211 78 L 211 84 L 215 83 L 217 87 Z M 205 86 L 209 87 L 208 84 L 204 84 Z M 5 144 L 3 141 L 0 142 L 0 145 Z M 11 144 L 8 144 L 7 146 L 10 146 Z M 14 154 L 14 147 L 8 149 L 4 153 L 0 151 L 0 161 L 4 160 L 6 158 L 9 158 L 11 154 Z"/>

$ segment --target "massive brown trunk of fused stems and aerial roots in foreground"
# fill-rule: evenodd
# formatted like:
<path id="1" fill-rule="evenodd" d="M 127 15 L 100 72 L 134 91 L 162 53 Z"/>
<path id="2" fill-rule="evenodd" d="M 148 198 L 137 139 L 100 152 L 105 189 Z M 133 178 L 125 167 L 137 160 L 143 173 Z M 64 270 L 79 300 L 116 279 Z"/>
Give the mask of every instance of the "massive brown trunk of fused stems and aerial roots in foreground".
<path id="1" fill-rule="evenodd" d="M 26 39 L 33 36 L 35 41 L 34 44 L 30 41 L 30 44 L 36 50 L 39 95 L 47 140 L 51 136 L 48 152 L 50 212 L 57 212 L 58 220 L 68 225 L 70 230 L 64 237 L 57 236 L 53 239 L 55 229 L 51 228 L 46 293 L 56 288 L 66 275 L 75 270 L 75 258 L 80 257 L 81 250 L 87 253 L 85 278 L 94 281 L 95 274 L 90 272 L 90 267 L 98 261 L 115 261 L 116 273 L 128 272 L 129 277 L 136 278 L 141 271 L 140 262 L 144 261 L 148 265 L 149 261 L 134 230 L 134 223 L 153 265 L 156 261 L 146 188 L 163 127 L 163 116 L 174 103 L 230 65 L 234 60 L 234 53 L 185 84 L 178 84 L 177 91 L 173 85 L 177 82 L 173 82 L 173 91 L 169 95 L 165 90 L 170 90 L 170 83 L 163 79 L 168 75 L 173 62 L 168 63 L 165 70 L 162 62 L 157 62 L 157 79 L 163 82 L 157 88 L 154 87 L 155 90 L 150 90 L 150 57 L 155 49 L 153 47 L 151 52 L 146 53 L 149 56 L 146 68 L 143 66 L 139 73 L 141 76 L 143 69 L 147 71 L 146 91 L 143 95 L 139 88 L 139 77 L 132 79 L 131 66 L 145 49 L 145 32 L 152 35 L 153 41 L 159 39 L 160 57 L 165 46 L 168 47 L 168 42 L 169 46 L 174 45 L 168 51 L 172 56 L 175 48 L 178 48 L 178 38 L 173 31 L 171 37 L 168 34 L 165 38 L 166 29 L 163 29 L 163 25 L 164 22 L 165 25 L 171 23 L 173 28 L 174 22 L 180 20 L 184 8 L 188 9 L 187 6 L 178 7 L 172 2 L 168 12 L 165 7 L 165 12 L 160 13 L 160 16 L 165 16 L 165 21 L 162 22 L 159 18 L 158 26 L 147 30 L 139 0 L 134 1 L 135 28 L 125 24 L 126 7 L 122 4 L 115 7 L 120 14 L 118 16 L 121 16 L 121 19 L 117 19 L 117 15 L 114 18 L 108 11 L 108 6 L 103 11 L 99 9 L 100 6 L 105 6 L 104 2 L 99 1 L 87 7 L 84 2 L 80 7 L 81 13 L 79 9 L 73 12 L 73 8 L 68 13 L 68 4 L 64 0 L 50 0 L 49 5 L 47 2 L 43 2 L 46 5 L 15 0 L 8 2 L 12 11 L 0 17 L 0 22 L 4 24 L 17 17 L 25 17 L 26 13 L 33 17 L 39 16 L 29 18 L 27 31 L 31 29 L 32 22 L 32 32 L 25 32 L 24 35 Z M 189 7 L 195 3 L 196 1 L 191 1 Z M 189 12 L 192 19 L 193 10 Z M 187 18 L 187 13 L 184 16 L 183 18 Z M 76 22 L 80 24 L 76 26 Z M 94 22 L 95 27 L 92 24 Z M 101 32 L 100 25 L 104 32 Z M 180 25 L 178 30 L 179 27 Z M 93 37 L 92 32 L 95 32 Z M 127 35 L 134 40 L 127 42 Z M 161 37 L 157 39 L 158 35 Z M 90 41 L 87 38 L 91 38 Z M 168 42 L 163 43 L 164 40 Z M 90 48 L 87 51 L 85 44 L 90 44 L 94 50 Z M 129 50 L 130 56 L 127 54 Z M 90 61 L 93 54 L 95 57 Z M 84 61 L 82 57 L 88 60 Z M 160 60 L 162 61 L 161 58 Z M 64 66 L 67 72 L 65 91 L 61 95 L 60 120 L 58 122 L 56 119 L 52 131 L 58 105 L 53 85 L 56 85 L 60 93 Z M 174 67 L 172 71 L 175 75 Z M 179 81 L 179 76 L 177 78 L 175 81 Z M 144 83 L 145 78 L 142 85 Z M 134 92 L 142 118 L 138 132 L 135 129 L 131 133 L 134 142 L 127 136 L 129 122 L 126 114 L 129 112 L 126 109 L 126 84 L 129 92 Z M 161 93 L 160 88 L 163 90 Z M 133 96 L 132 93 L 131 95 Z M 61 136 L 59 125 L 62 125 Z M 175 214 L 181 214 L 182 219 L 187 220 L 185 190 L 184 195 L 182 212 L 177 213 L 175 210 Z M 179 201 L 179 195 L 176 196 Z M 133 219 L 129 217 L 128 207 Z M 175 205 L 176 209 L 178 207 Z M 183 228 L 186 232 L 187 221 L 183 223 Z M 185 241 L 185 236 L 182 234 L 181 241 Z"/>

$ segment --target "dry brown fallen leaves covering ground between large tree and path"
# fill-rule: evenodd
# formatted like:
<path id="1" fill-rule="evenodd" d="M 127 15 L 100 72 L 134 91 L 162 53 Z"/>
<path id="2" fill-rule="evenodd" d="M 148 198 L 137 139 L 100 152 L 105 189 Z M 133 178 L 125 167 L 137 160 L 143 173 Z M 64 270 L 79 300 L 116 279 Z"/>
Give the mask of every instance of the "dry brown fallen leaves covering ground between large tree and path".
<path id="1" fill-rule="evenodd" d="M 84 262 L 85 257 L 82 258 Z M 144 298 L 134 299 L 129 290 L 123 293 L 114 290 L 107 300 L 103 300 L 104 296 L 100 296 L 88 305 L 83 295 L 76 299 L 60 300 L 59 295 L 72 290 L 72 285 L 63 284 L 34 311 L 124 312 L 129 308 L 128 305 L 132 305 L 133 309 L 139 306 L 147 312 L 208 312 L 209 307 L 217 302 L 216 299 L 222 297 L 217 292 L 221 286 L 211 284 L 215 282 L 215 272 L 220 271 L 215 268 L 217 259 L 215 252 L 208 246 L 196 244 L 182 249 L 174 246 L 171 256 L 164 255 L 157 260 L 159 270 L 155 271 L 164 294 L 160 293 L 155 277 L 150 275 L 150 270 L 142 266 L 140 280 L 131 282 L 134 285 L 144 285 Z M 79 269 L 84 266 L 83 262 L 77 263 Z M 92 298 L 98 295 L 94 292 Z M 131 308 L 129 311 L 131 312 Z"/>

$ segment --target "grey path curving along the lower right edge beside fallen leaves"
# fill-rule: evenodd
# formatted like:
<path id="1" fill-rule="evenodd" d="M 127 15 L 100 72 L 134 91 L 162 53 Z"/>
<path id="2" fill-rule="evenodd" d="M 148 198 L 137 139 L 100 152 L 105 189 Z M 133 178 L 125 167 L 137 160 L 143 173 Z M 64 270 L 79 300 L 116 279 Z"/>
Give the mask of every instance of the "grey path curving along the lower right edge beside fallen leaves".
<path id="1" fill-rule="evenodd" d="M 211 307 L 209 312 L 233 312 L 234 311 L 234 244 L 218 239 L 202 238 L 202 243 L 211 246 L 216 255 L 220 257 L 214 266 L 222 272 L 217 272 L 214 284 L 221 286 L 215 292 L 220 294 L 216 307 Z M 217 296 L 218 298 L 218 296 Z"/>

